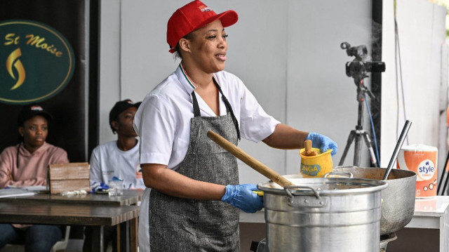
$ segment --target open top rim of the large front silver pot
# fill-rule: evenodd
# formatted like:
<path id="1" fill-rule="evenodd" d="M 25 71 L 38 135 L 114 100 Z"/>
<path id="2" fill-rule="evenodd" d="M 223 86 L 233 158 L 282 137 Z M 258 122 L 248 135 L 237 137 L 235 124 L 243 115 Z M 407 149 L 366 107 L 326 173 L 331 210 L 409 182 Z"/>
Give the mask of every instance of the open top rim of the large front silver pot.
<path id="1" fill-rule="evenodd" d="M 286 187 L 293 195 L 313 196 L 316 192 L 320 195 L 335 194 L 359 194 L 375 192 L 387 188 L 387 182 L 383 180 L 369 180 L 364 178 L 295 178 L 295 175 L 283 176 L 294 186 Z M 264 193 L 286 194 L 286 190 L 273 181 L 259 183 L 259 190 Z"/>

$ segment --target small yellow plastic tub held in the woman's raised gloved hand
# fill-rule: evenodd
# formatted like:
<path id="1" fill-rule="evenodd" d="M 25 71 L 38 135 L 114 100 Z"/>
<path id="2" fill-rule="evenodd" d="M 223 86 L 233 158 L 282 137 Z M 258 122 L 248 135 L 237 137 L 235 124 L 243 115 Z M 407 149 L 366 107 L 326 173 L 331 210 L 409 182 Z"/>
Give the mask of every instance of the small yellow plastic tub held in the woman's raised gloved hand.
<path id="1" fill-rule="evenodd" d="M 332 150 L 327 150 L 321 153 L 318 148 L 312 148 L 316 151 L 318 155 L 316 156 L 304 156 L 302 152 L 304 149 L 300 150 L 301 156 L 301 171 L 300 173 L 304 178 L 323 178 L 324 174 L 332 172 L 333 163 L 332 156 L 330 152 Z"/>

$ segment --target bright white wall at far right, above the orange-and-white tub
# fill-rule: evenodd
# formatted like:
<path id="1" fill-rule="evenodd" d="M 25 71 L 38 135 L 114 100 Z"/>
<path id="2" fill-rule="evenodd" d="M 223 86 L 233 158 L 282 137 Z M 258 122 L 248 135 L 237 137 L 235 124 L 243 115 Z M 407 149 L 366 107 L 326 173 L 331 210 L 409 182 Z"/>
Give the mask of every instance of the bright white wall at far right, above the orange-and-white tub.
<path id="1" fill-rule="evenodd" d="M 439 140 L 447 134 L 446 128 L 440 128 L 440 112 L 443 109 L 444 114 L 448 105 L 448 83 L 447 78 L 443 78 L 447 72 L 441 69 L 442 65 L 447 66 L 448 60 L 447 56 L 442 57 L 445 14 L 444 7 L 429 1 L 396 1 L 406 119 L 412 121 L 408 142 L 404 142 L 404 145 L 424 144 L 439 147 L 438 158 L 443 159 L 438 160 L 439 165 L 444 164 L 446 152 L 446 146 L 440 145 Z M 391 156 L 396 146 L 396 135 L 401 133 L 405 119 L 401 93 L 399 97 L 396 95 L 396 69 L 389 67 L 395 65 L 393 0 L 384 1 L 383 15 L 382 60 L 387 63 L 387 71 L 382 74 L 381 154 L 387 157 Z M 442 82 L 443 79 L 445 82 Z M 398 80 L 401 80 L 400 75 Z M 384 167 L 388 162 L 389 159 L 382 159 Z"/>

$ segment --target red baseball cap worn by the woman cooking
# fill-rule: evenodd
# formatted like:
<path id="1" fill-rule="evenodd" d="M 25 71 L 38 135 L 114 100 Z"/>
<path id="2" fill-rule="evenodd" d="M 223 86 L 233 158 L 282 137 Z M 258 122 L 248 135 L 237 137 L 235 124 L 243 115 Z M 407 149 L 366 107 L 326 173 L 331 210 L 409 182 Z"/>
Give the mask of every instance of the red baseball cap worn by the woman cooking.
<path id="1" fill-rule="evenodd" d="M 239 15 L 232 10 L 217 14 L 199 0 L 192 1 L 178 8 L 171 15 L 167 24 L 167 42 L 170 45 L 169 52 L 175 52 L 177 42 L 182 37 L 217 19 L 222 21 L 223 27 L 228 27 L 234 25 L 239 20 Z"/>

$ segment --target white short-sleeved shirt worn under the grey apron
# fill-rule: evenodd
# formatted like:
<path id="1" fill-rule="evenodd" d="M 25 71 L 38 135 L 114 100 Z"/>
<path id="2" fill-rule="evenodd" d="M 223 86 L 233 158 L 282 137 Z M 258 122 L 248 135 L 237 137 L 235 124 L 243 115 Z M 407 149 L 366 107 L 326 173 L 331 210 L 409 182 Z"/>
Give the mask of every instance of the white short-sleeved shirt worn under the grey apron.
<path id="1" fill-rule="evenodd" d="M 234 111 L 241 137 L 254 142 L 267 138 L 279 121 L 269 116 L 241 79 L 221 71 L 214 76 Z M 195 84 L 182 63 L 142 101 L 133 126 L 140 137 L 140 164 L 164 164 L 175 170 L 187 154 L 190 119 L 194 117 L 192 91 Z M 227 113 L 220 94 L 220 116 Z M 201 117 L 216 117 L 196 95 Z"/>

